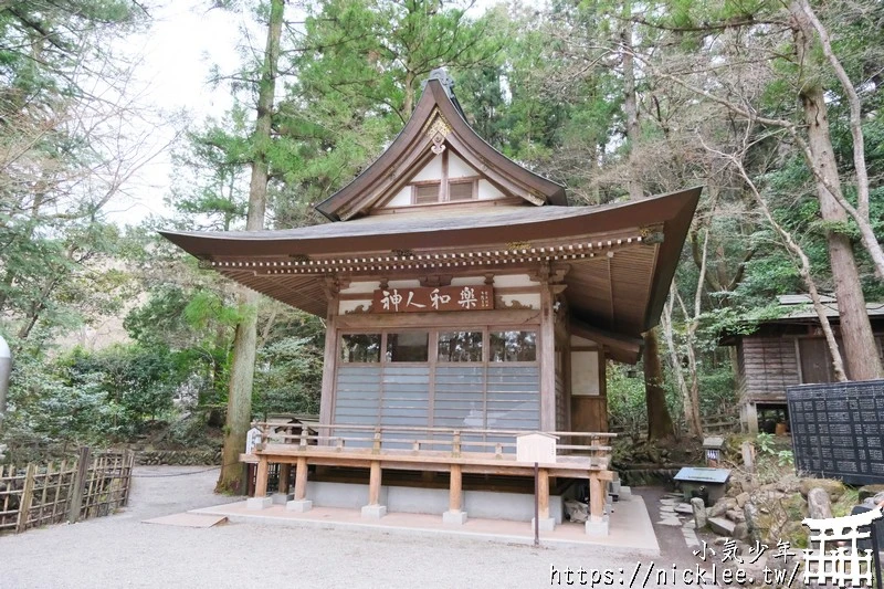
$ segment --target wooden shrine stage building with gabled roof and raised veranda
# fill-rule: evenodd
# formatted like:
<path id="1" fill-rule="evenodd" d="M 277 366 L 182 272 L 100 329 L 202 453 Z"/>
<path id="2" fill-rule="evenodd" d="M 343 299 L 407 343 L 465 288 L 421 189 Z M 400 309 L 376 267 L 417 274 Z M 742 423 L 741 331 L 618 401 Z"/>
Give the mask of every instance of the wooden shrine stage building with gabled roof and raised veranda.
<path id="1" fill-rule="evenodd" d="M 308 460 L 346 462 L 323 446 L 364 452 L 349 464 L 370 463 L 369 505 L 381 467 L 439 471 L 457 513 L 461 473 L 529 474 L 499 467 L 520 432 L 559 432 L 560 454 L 606 432 L 606 360 L 639 359 L 701 193 L 569 207 L 564 187 L 475 134 L 452 85 L 434 72 L 390 147 L 316 207 L 330 222 L 164 233 L 206 267 L 326 319 L 320 435 L 291 460 L 270 450 L 283 444 L 256 454 L 298 472 L 304 459 L 306 476 Z M 603 453 L 603 437 L 591 440 Z M 388 449 L 410 457 L 377 457 Z M 498 466 L 480 465 L 485 454 Z M 545 473 L 568 475 L 562 460 Z M 305 484 L 296 477 L 296 501 Z"/>

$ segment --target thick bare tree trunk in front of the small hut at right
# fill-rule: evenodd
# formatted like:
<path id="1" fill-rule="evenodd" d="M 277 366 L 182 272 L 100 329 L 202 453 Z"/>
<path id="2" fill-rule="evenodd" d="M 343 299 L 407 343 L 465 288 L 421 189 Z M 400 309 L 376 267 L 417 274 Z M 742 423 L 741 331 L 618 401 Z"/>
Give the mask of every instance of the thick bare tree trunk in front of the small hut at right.
<path id="1" fill-rule="evenodd" d="M 790 10 L 798 23 L 794 31 L 796 46 L 799 59 L 803 61 L 810 59 L 811 49 L 810 40 L 806 35 L 807 15 L 798 3 L 793 3 Z M 813 158 L 811 166 L 818 169 L 823 177 L 815 181 L 820 212 L 824 221 L 845 225 L 848 214 L 838 203 L 843 194 L 832 139 L 829 135 L 824 91 L 818 78 L 809 78 L 804 82 L 799 97 L 807 123 L 808 146 Z M 831 229 L 827 231 L 825 241 L 838 297 L 848 378 L 851 380 L 881 378 L 881 360 L 872 333 L 872 324 L 869 320 L 869 312 L 865 307 L 853 245 L 846 234 Z"/>

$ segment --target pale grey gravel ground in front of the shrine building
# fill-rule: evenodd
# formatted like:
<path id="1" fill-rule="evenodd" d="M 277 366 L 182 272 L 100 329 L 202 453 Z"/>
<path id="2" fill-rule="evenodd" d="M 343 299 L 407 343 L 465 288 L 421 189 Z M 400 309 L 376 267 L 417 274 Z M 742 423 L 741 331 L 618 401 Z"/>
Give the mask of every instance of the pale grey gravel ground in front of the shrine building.
<path id="1" fill-rule="evenodd" d="M 187 466 L 138 467 L 130 504 L 122 513 L 0 537 L 0 588 L 242 589 L 271 583 L 527 588 L 549 587 L 552 565 L 559 570 L 609 568 L 615 575 L 622 567 L 627 571 L 624 586 L 629 587 L 635 564 L 651 561 L 646 555 L 600 547 L 534 548 L 251 523 L 207 529 L 143 524 L 146 518 L 234 501 L 212 494 L 217 471 L 157 476 L 193 471 Z M 684 550 L 682 547 L 678 551 Z M 669 558 L 664 551 L 655 560 L 671 562 Z M 560 580 L 567 585 L 566 579 Z M 580 585 L 577 577 L 573 580 Z"/>

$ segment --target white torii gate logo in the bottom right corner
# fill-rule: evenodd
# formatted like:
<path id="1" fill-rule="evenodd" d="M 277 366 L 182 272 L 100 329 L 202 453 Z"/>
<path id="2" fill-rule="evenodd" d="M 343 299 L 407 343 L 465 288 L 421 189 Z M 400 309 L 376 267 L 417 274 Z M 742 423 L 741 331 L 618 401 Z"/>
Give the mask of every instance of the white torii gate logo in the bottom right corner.
<path id="1" fill-rule="evenodd" d="M 831 517 L 828 519 L 802 519 L 801 523 L 817 535 L 810 536 L 811 546 L 817 550 L 804 550 L 804 583 L 831 582 L 834 587 L 871 587 L 873 557 L 872 550 L 860 550 L 856 541 L 869 538 L 871 525 L 881 519 L 881 507 L 869 512 Z M 860 528 L 865 532 L 860 532 Z M 831 530 L 832 534 L 827 534 Z M 846 543 L 850 541 L 850 546 Z M 827 550 L 827 543 L 832 548 Z"/>

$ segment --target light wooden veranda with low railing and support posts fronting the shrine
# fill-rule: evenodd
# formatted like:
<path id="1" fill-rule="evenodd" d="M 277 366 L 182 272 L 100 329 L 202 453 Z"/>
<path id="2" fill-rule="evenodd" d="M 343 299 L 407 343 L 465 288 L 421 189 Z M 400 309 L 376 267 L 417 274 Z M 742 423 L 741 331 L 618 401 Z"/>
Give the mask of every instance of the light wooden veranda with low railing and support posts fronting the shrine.
<path id="1" fill-rule="evenodd" d="M 306 502 L 308 464 L 368 467 L 368 506 L 376 507 L 383 469 L 449 472 L 449 512 L 453 513 L 461 512 L 463 473 L 537 476 L 539 517 L 546 519 L 549 517 L 549 477 L 560 476 L 589 480 L 590 518 L 601 520 L 604 484 L 613 478 L 613 473 L 608 470 L 611 446 L 603 442 L 614 438 L 614 433 L 546 432 L 559 439 L 556 456 L 535 464 L 517 460 L 516 437 L 532 433 L 520 430 L 349 424 L 312 425 L 312 429 L 280 423 L 254 425 L 261 430 L 261 443 L 255 445 L 251 454 L 241 457 L 244 462 L 257 463 L 257 498 L 267 494 L 270 463 L 281 465 L 282 493 L 288 492 L 287 467 L 295 465 L 295 502 Z M 301 431 L 294 431 L 298 429 Z M 490 438 L 492 441 L 488 441 Z M 508 441 L 511 439 L 513 441 Z M 573 443 L 575 440 L 587 440 L 588 443 Z"/>

